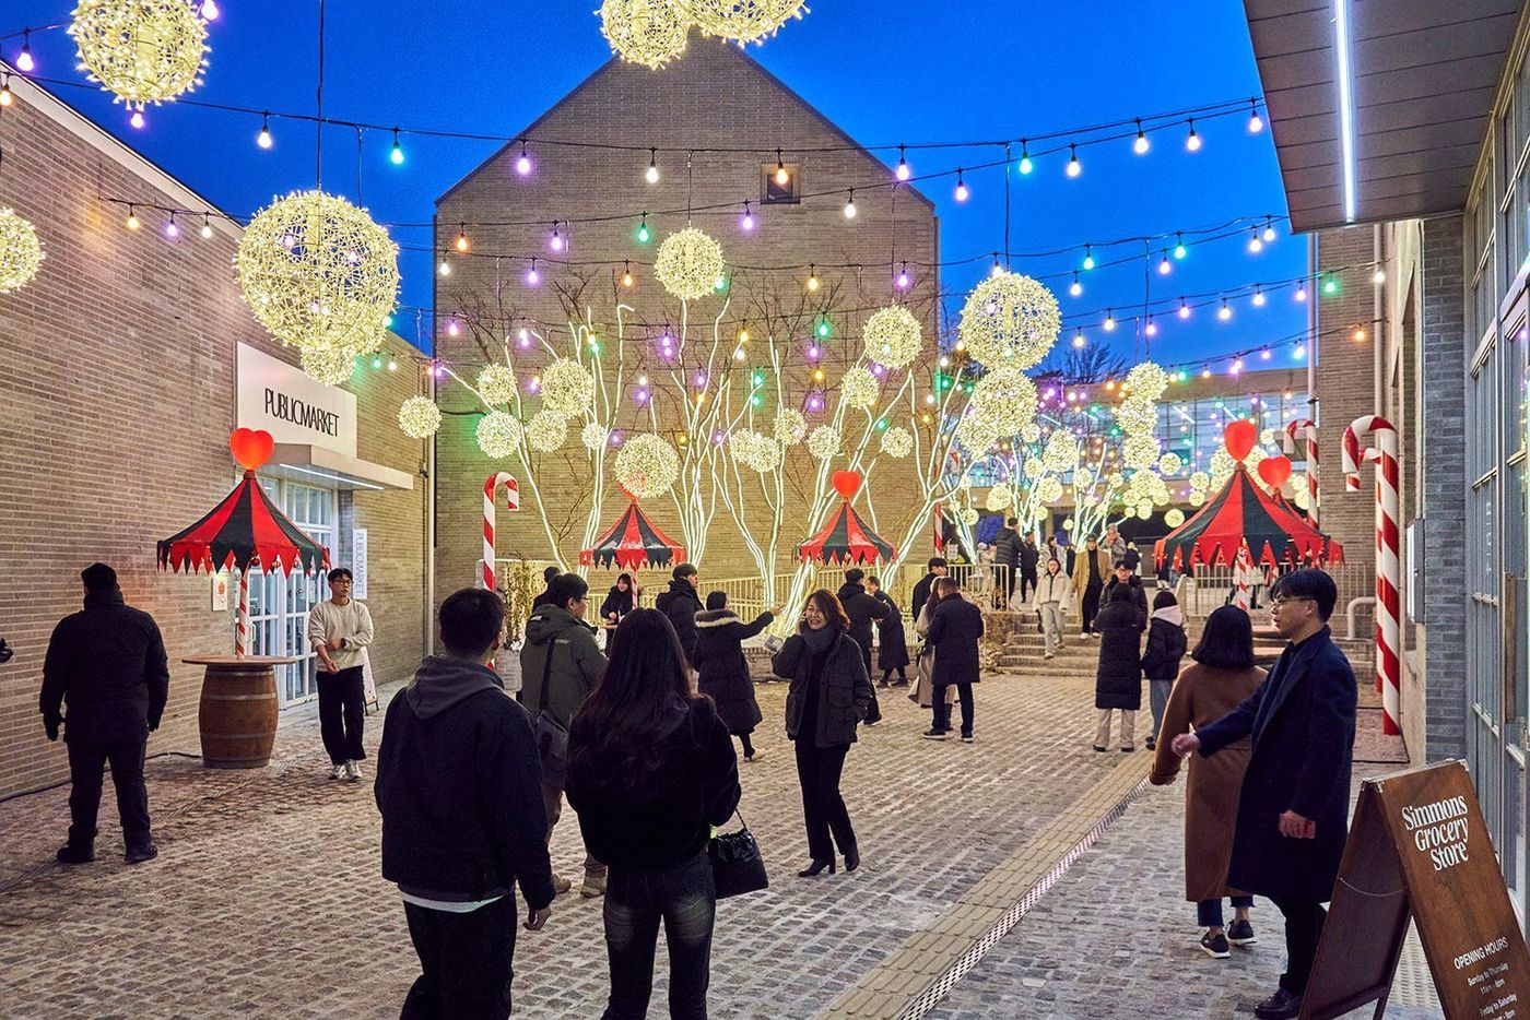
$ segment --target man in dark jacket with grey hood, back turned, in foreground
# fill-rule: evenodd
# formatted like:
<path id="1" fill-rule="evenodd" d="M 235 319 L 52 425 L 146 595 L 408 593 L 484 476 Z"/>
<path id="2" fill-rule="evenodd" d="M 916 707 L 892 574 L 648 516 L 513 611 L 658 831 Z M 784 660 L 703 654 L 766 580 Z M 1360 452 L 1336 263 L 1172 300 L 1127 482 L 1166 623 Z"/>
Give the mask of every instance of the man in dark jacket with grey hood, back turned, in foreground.
<path id="1" fill-rule="evenodd" d="M 503 627 L 494 592 L 447 598 L 445 655 L 421 664 L 382 723 L 382 878 L 404 898 L 421 966 L 404 1017 L 508 1017 L 516 885 L 528 931 L 542 930 L 552 904 L 537 743 L 485 665 Z"/>

